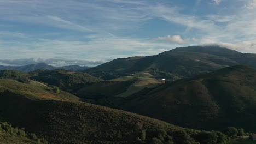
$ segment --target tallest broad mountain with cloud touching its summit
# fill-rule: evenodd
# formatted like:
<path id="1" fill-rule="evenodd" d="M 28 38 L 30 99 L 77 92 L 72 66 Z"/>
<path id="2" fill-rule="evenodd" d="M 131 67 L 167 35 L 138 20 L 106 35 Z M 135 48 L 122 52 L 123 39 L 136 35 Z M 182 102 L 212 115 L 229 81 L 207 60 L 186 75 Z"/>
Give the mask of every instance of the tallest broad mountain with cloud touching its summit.
<path id="1" fill-rule="evenodd" d="M 189 46 L 155 56 L 118 58 L 84 72 L 104 80 L 137 73 L 176 80 L 239 64 L 256 68 L 256 55 L 219 46 Z"/>

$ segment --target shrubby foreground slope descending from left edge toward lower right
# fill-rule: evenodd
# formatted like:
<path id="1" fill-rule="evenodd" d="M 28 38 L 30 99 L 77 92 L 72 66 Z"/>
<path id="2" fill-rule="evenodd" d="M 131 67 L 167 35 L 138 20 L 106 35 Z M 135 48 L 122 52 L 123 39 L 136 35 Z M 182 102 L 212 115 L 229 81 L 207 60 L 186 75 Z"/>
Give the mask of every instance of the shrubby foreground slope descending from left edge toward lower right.
<path id="1" fill-rule="evenodd" d="M 157 119 L 79 101 L 51 87 L 0 79 L 0 120 L 49 143 L 196 143 L 222 141 L 218 132 L 177 127 Z M 0 123 L 1 124 L 1 123 Z M 2 133 L 0 132 L 0 140 Z M 225 135 L 222 135 L 225 136 Z M 226 138 L 224 139 L 226 141 Z"/>

